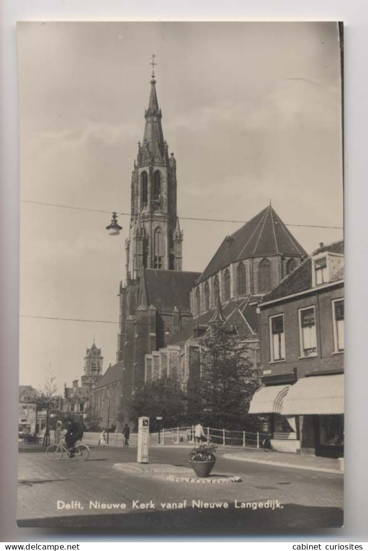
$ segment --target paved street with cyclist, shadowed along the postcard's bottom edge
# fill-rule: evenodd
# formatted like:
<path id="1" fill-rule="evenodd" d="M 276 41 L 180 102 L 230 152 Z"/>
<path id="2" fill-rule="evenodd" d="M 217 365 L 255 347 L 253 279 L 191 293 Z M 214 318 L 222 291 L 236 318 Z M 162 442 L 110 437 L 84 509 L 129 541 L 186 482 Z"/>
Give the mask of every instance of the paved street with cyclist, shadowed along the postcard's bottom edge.
<path id="1" fill-rule="evenodd" d="M 155 447 L 150 450 L 150 463 L 188 467 L 188 451 Z M 18 525 L 176 534 L 224 534 L 227 529 L 232 534 L 249 534 L 307 532 L 343 523 L 340 474 L 229 460 L 221 451 L 213 473 L 239 476 L 243 482 L 177 483 L 113 468 L 115 463 L 135 462 L 136 454 L 136 449 L 95 447 L 89 460 L 79 463 L 67 457 L 51 462 L 44 452 L 21 450 Z M 185 508 L 180 508 L 185 500 Z M 193 500 L 229 505 L 227 509 L 193 507 Z M 58 501 L 73 508 L 58 509 Z M 241 508 L 241 503 L 250 502 L 278 503 L 283 508 Z M 137 509 L 142 503 L 149 508 Z M 177 504 L 177 509 L 163 508 L 163 503 Z M 101 504 L 117 504 L 117 508 L 102 509 Z"/>

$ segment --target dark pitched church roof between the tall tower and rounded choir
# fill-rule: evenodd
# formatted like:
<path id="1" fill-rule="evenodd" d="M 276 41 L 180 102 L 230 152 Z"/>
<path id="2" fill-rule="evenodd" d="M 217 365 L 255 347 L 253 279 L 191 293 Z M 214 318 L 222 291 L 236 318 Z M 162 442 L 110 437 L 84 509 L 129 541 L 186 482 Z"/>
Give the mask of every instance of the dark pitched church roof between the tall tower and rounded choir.
<path id="1" fill-rule="evenodd" d="M 189 292 L 199 272 L 144 269 L 140 277 L 139 306 L 153 305 L 157 310 L 189 309 Z"/>

